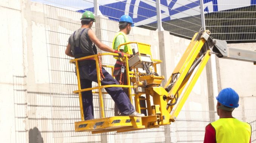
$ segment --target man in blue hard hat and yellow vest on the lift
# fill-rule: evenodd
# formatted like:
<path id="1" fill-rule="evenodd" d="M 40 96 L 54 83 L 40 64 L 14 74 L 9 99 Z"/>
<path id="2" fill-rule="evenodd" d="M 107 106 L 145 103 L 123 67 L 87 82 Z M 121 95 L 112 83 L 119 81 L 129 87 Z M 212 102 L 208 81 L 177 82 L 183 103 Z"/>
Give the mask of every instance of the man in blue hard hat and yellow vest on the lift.
<path id="1" fill-rule="evenodd" d="M 118 50 L 117 48 L 119 47 L 120 44 L 130 42 L 126 35 L 128 35 L 130 33 L 131 27 L 133 27 L 133 26 L 134 26 L 133 20 L 130 16 L 123 15 L 122 17 L 120 17 L 120 20 L 119 20 L 119 29 L 120 30 L 119 30 L 119 32 L 116 33 L 116 35 L 113 39 L 113 43 L 112 43 L 112 48 L 114 50 Z M 126 53 L 126 55 L 128 54 L 128 56 L 127 56 L 128 58 L 133 56 L 133 51 L 132 51 L 130 44 L 120 46 L 119 51 Z M 114 77 L 119 82 L 119 84 L 127 85 L 125 63 L 122 63 L 119 60 L 119 57 L 114 56 L 114 58 L 116 59 L 116 64 L 114 66 Z M 126 95 L 128 96 L 128 89 L 123 88 L 123 90 L 125 91 Z M 120 113 L 116 104 L 115 104 L 114 111 L 115 111 L 115 116 L 122 116 L 122 113 Z"/>

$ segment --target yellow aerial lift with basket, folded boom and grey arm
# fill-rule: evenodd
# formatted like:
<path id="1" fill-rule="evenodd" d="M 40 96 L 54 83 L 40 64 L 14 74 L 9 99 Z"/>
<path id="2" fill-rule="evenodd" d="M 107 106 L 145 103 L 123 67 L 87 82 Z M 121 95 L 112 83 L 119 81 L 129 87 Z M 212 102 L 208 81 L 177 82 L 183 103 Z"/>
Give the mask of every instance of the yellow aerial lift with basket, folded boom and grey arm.
<path id="1" fill-rule="evenodd" d="M 129 71 L 129 68 L 126 68 L 126 73 L 128 73 L 128 85 L 102 86 L 100 83 L 98 56 L 117 56 L 115 53 L 104 53 L 70 60 L 70 63 L 76 64 L 78 90 L 73 91 L 73 93 L 79 94 L 80 113 L 82 120 L 80 122 L 75 122 L 76 132 L 91 131 L 93 134 L 109 131 L 126 132 L 139 129 L 157 128 L 161 125 L 168 125 L 171 122 L 174 122 L 211 54 L 216 54 L 216 56 L 221 58 L 253 62 L 254 65 L 256 65 L 255 51 L 228 48 L 226 41 L 212 39 L 210 37 L 209 30 L 200 30 L 192 38 L 187 50 L 181 57 L 178 65 L 174 69 L 167 83 L 164 86 L 161 86 L 164 77 L 157 74 L 156 65 L 162 61 L 152 58 L 150 45 L 139 42 L 128 42 L 119 45 L 119 48 L 120 46 L 126 44 L 136 44 L 138 51 L 136 54 L 134 52 L 134 56 L 130 59 L 128 59 L 126 56 L 122 59 L 120 58 L 126 67 L 131 69 Z M 88 58 L 94 58 L 96 60 L 98 86 L 88 89 L 81 89 L 78 62 Z M 104 67 L 104 65 L 102 66 Z M 105 67 L 112 68 L 113 72 L 113 66 Z M 196 67 L 197 69 L 195 71 Z M 141 72 L 140 69 L 143 69 L 145 72 Z M 106 87 L 128 88 L 131 101 L 132 97 L 134 96 L 136 111 L 141 113 L 142 110 L 146 110 L 146 114 L 148 116 L 105 117 L 102 98 L 102 94 L 105 94 L 105 92 L 102 92 L 102 88 Z M 131 92 L 132 89 L 134 90 L 134 94 Z M 82 92 L 88 90 L 93 90 L 93 93 L 99 94 L 99 119 L 84 120 Z M 145 95 L 145 97 L 141 98 L 141 95 Z M 153 99 L 153 101 L 150 97 Z M 146 107 L 141 107 L 140 100 L 145 101 Z"/>

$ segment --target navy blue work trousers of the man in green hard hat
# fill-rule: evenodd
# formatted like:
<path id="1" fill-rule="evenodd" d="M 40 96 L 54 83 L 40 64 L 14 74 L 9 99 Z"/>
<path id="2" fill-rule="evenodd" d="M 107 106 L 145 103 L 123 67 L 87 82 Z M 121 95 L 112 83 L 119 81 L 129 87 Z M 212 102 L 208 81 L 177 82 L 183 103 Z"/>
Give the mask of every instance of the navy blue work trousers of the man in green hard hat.
<path id="1" fill-rule="evenodd" d="M 102 73 L 105 78 L 101 81 L 101 85 L 119 84 L 104 68 L 102 68 Z M 91 88 L 92 81 L 98 82 L 95 60 L 87 60 L 86 64 L 79 66 L 79 74 L 81 89 Z M 105 90 L 123 115 L 129 115 L 135 111 L 130 99 L 121 87 L 108 87 Z M 93 93 L 91 90 L 82 92 L 82 101 L 85 120 L 94 119 Z"/>

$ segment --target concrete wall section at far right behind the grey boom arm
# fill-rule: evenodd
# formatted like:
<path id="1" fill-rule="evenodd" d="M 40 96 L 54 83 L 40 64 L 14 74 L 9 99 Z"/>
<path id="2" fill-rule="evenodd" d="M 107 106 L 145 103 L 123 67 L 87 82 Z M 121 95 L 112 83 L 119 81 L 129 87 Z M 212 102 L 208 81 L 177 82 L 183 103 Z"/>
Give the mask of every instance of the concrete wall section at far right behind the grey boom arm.
<path id="1" fill-rule="evenodd" d="M 228 47 L 256 50 L 256 43 L 228 44 Z M 219 59 L 221 87 L 231 87 L 239 95 L 239 109 L 255 108 L 256 102 L 256 65 L 251 62 Z M 246 115 L 244 115 L 246 116 Z"/>

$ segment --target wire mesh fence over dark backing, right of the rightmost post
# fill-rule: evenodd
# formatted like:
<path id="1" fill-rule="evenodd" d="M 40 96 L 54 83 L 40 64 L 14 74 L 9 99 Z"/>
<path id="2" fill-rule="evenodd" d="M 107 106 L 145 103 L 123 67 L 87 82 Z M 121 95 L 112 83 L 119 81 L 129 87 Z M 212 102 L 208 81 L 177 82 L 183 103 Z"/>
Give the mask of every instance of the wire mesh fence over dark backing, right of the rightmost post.
<path id="1" fill-rule="evenodd" d="M 214 5 L 205 4 L 204 6 L 213 7 Z M 232 9 L 227 9 L 230 6 Z M 230 42 L 256 40 L 255 3 L 251 5 L 218 4 L 218 10 L 205 14 L 205 26 L 206 29 L 210 29 L 212 37 Z"/>

